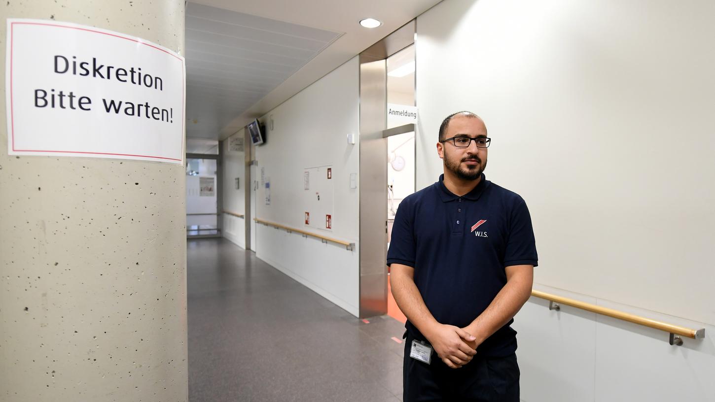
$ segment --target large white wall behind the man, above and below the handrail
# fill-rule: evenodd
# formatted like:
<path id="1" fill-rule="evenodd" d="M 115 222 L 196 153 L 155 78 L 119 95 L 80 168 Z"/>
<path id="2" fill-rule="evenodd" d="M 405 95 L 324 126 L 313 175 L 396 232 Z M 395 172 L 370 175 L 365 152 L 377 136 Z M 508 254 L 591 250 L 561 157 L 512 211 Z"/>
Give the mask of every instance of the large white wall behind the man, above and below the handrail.
<path id="1" fill-rule="evenodd" d="M 711 328 L 714 15 L 711 1 L 438 4 L 417 21 L 418 189 L 442 171 L 442 119 L 474 111 L 488 178 L 531 210 L 538 284 Z M 709 330 L 678 348 L 540 303 L 516 321 L 525 401 L 715 399 Z"/>

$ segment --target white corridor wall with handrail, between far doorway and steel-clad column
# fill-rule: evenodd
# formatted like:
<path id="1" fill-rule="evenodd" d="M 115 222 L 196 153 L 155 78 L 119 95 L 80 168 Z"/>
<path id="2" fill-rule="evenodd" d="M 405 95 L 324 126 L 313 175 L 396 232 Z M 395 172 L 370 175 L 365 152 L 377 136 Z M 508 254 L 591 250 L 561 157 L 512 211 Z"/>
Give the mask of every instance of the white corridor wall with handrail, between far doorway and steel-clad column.
<path id="1" fill-rule="evenodd" d="M 268 130 L 266 144 L 255 149 L 258 179 L 264 169 L 271 184 L 270 205 L 263 186 L 257 191 L 257 218 L 303 228 L 303 169 L 332 165 L 332 231 L 315 231 L 358 243 L 358 189 L 350 189 L 350 174 L 359 171 L 359 139 L 347 144 L 348 133 L 358 134 L 358 79 L 355 57 L 260 119 L 267 123 L 272 116 L 274 129 Z M 258 258 L 358 316 L 357 248 L 348 251 L 264 225 L 256 226 L 255 247 Z"/>

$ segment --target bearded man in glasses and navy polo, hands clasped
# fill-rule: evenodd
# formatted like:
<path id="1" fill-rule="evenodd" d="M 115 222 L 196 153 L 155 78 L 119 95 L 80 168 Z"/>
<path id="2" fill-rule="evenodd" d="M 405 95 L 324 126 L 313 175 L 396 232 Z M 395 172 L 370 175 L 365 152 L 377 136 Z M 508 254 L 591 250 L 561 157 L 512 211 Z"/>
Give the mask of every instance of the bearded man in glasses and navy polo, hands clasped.
<path id="1" fill-rule="evenodd" d="M 483 174 L 482 119 L 462 111 L 440 126 L 440 180 L 400 203 L 388 265 L 408 322 L 403 398 L 519 401 L 513 316 L 537 266 L 531 216 L 518 194 Z"/>

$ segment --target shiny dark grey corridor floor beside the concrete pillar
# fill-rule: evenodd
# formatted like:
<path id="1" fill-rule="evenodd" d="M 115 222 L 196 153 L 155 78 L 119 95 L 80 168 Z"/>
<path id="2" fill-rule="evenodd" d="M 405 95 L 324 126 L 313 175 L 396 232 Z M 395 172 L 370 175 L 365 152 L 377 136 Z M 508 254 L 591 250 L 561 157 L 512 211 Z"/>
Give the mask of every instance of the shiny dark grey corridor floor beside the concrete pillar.
<path id="1" fill-rule="evenodd" d="M 402 401 L 402 323 L 363 323 L 220 238 L 187 254 L 190 402 Z"/>

